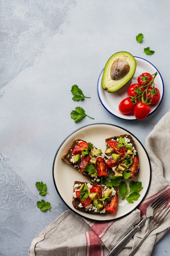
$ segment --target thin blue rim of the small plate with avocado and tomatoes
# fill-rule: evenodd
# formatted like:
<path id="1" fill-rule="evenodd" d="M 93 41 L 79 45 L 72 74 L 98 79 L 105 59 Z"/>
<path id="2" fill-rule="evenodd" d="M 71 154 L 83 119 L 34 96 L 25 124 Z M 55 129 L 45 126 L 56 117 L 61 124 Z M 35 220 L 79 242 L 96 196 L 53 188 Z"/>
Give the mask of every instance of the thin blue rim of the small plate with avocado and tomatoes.
<path id="1" fill-rule="evenodd" d="M 152 115 L 152 114 L 159 108 L 159 106 L 160 106 L 160 104 L 161 104 L 161 102 L 162 102 L 162 100 L 163 100 L 163 95 L 164 95 L 164 83 L 163 83 L 163 79 L 162 79 L 162 76 L 161 76 L 159 70 L 158 70 L 150 61 L 147 61 L 146 59 L 141 58 L 141 57 L 137 57 L 137 56 L 134 56 L 134 58 L 141 59 L 141 60 L 143 60 L 143 61 L 148 62 L 150 65 L 152 65 L 152 66 L 155 68 L 155 70 L 157 70 L 157 72 L 158 72 L 158 74 L 159 74 L 159 76 L 160 76 L 160 78 L 161 78 L 161 81 L 162 81 L 162 90 L 163 90 L 163 92 L 162 92 L 161 100 L 159 101 L 159 104 L 155 107 L 155 109 L 152 110 L 152 112 L 150 112 L 150 114 L 148 115 L 148 116 L 150 116 L 150 115 Z M 103 68 L 102 72 L 100 73 L 99 78 L 98 78 L 98 81 L 97 81 L 97 94 L 98 94 L 98 97 L 99 97 L 100 102 L 102 103 L 102 106 L 103 106 L 111 115 L 113 115 L 113 116 L 115 116 L 115 117 L 118 117 L 118 118 L 120 118 L 120 119 L 126 119 L 126 120 L 137 120 L 136 118 L 128 119 L 128 118 L 119 117 L 119 116 L 115 115 L 113 112 L 111 112 L 110 110 L 108 110 L 108 108 L 104 105 L 104 103 L 103 103 L 103 101 L 102 101 L 102 99 L 101 99 L 100 93 L 99 93 L 99 86 L 100 86 L 100 85 L 99 85 L 99 82 L 100 82 L 100 79 L 102 78 L 103 71 L 104 71 L 104 68 Z M 103 90 L 104 90 L 104 89 L 103 89 Z M 108 93 L 108 92 L 107 92 L 107 93 Z"/>

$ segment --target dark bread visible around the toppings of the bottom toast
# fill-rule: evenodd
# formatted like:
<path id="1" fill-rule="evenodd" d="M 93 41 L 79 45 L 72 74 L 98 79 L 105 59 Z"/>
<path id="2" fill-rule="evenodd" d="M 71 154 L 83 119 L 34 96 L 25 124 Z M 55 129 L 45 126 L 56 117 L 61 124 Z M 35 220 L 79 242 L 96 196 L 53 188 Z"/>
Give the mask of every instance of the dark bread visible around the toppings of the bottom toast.
<path id="1" fill-rule="evenodd" d="M 75 191 L 79 190 L 80 187 L 82 186 L 82 184 L 87 184 L 89 190 L 90 190 L 91 187 L 96 186 L 95 184 L 90 183 L 90 182 L 88 183 L 88 182 L 75 181 L 74 185 L 73 185 L 73 199 L 72 199 L 73 207 L 75 209 L 79 210 L 79 211 L 84 211 L 84 212 L 87 212 L 87 213 L 108 214 L 109 211 L 106 211 L 106 209 L 104 208 L 106 202 L 103 204 L 102 208 L 99 211 L 97 211 L 97 206 L 93 205 L 93 200 L 91 201 L 91 204 L 89 204 L 87 207 L 84 207 L 82 205 L 82 203 L 76 198 L 76 195 L 75 195 Z M 113 199 L 116 196 L 117 197 L 117 206 L 118 206 L 118 187 L 110 188 L 110 187 L 107 187 L 105 185 L 104 186 L 97 185 L 97 186 L 101 187 L 102 198 L 104 198 L 104 193 L 106 191 L 110 191 L 110 189 L 112 189 L 113 192 L 112 192 L 112 195 L 110 195 L 110 199 Z M 117 210 L 117 207 L 116 207 L 116 210 Z M 115 210 L 115 212 L 116 212 L 116 210 Z"/>

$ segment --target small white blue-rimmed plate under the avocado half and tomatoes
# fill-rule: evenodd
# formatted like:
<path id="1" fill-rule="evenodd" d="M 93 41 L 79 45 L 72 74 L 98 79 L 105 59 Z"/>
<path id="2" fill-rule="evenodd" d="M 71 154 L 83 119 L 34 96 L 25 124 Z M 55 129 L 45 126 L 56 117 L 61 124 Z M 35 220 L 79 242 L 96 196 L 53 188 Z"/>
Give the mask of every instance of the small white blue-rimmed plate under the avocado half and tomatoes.
<path id="1" fill-rule="evenodd" d="M 137 77 L 144 72 L 148 72 L 150 74 L 154 74 L 156 71 L 158 72 L 157 76 L 155 77 L 155 87 L 159 89 L 160 96 L 161 96 L 157 104 L 155 104 L 154 106 L 150 106 L 149 115 L 151 115 L 153 112 L 155 112 L 155 110 L 157 110 L 157 108 L 159 107 L 163 99 L 164 85 L 163 85 L 161 74 L 159 73 L 157 68 L 154 65 L 152 65 L 149 61 L 146 61 L 143 58 L 135 57 L 135 60 L 137 63 L 137 67 L 131 83 L 125 85 L 123 88 L 119 89 L 117 92 L 109 93 L 102 88 L 102 76 L 103 76 L 104 69 L 100 73 L 99 79 L 97 82 L 97 92 L 98 92 L 99 100 L 101 101 L 102 105 L 112 115 L 115 115 L 116 117 L 119 117 L 121 119 L 128 119 L 128 120 L 136 119 L 133 113 L 129 115 L 122 115 L 119 112 L 118 107 L 119 107 L 119 103 L 123 99 L 128 97 L 128 94 L 127 94 L 128 87 L 133 83 L 137 83 Z"/>

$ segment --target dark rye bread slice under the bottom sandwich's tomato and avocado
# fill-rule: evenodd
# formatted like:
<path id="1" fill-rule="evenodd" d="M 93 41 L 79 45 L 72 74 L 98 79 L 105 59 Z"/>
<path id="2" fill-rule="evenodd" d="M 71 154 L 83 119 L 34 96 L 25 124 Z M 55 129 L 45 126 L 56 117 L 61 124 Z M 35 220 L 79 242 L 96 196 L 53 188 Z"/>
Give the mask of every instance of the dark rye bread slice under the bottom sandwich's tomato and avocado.
<path id="1" fill-rule="evenodd" d="M 74 197 L 75 196 L 75 190 L 79 189 L 82 184 L 89 184 L 90 186 L 96 186 L 95 184 L 90 183 L 90 182 L 88 183 L 88 182 L 75 181 L 74 184 L 73 184 L 73 199 L 72 199 L 73 207 L 75 209 L 79 210 L 79 211 L 83 211 L 83 212 L 86 212 L 86 213 L 108 214 L 109 213 L 108 211 L 103 210 L 104 207 L 102 208 L 103 211 L 101 211 L 101 212 L 97 212 L 95 207 L 94 207 L 94 209 L 93 208 L 88 208 L 88 207 L 83 207 L 81 202 L 77 198 Z M 102 186 L 102 185 L 99 185 L 99 184 L 97 186 L 100 186 L 102 191 L 104 191 L 104 190 L 106 191 L 106 189 L 111 189 L 110 187 Z M 115 195 L 117 195 L 117 197 L 118 197 L 119 188 L 114 187 L 112 189 L 115 191 Z"/>

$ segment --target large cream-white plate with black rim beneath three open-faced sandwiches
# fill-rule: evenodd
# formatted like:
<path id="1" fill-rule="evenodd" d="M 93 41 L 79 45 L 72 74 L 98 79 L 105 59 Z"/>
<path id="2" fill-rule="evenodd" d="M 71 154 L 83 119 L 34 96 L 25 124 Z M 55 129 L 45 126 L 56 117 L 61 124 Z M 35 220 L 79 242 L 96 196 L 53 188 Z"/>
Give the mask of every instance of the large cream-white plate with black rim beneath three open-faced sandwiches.
<path id="1" fill-rule="evenodd" d="M 80 216 L 93 220 L 113 220 L 116 218 L 120 218 L 134 210 L 146 195 L 148 186 L 150 184 L 150 161 L 148 158 L 148 154 L 146 153 L 146 150 L 144 149 L 140 141 L 134 135 L 132 135 L 139 154 L 140 165 L 139 174 L 133 180 L 141 181 L 144 187 L 140 192 L 141 196 L 139 197 L 139 200 L 135 201 L 134 203 L 129 203 L 126 200 L 121 200 L 121 196 L 119 196 L 119 207 L 117 209 L 117 212 L 115 214 L 108 213 L 106 215 L 81 212 L 76 210 L 72 205 L 73 183 L 76 180 L 82 182 L 88 182 L 88 180 L 71 166 L 62 161 L 61 157 L 66 152 L 70 144 L 76 139 L 82 139 L 87 142 L 93 143 L 94 146 L 100 148 L 102 152 L 104 152 L 106 138 L 122 135 L 125 133 L 132 135 L 128 130 L 112 124 L 91 124 L 79 128 L 71 135 L 69 135 L 57 150 L 53 162 L 53 180 L 55 188 L 60 197 L 62 198 L 63 202 L 71 210 L 73 210 Z"/>

